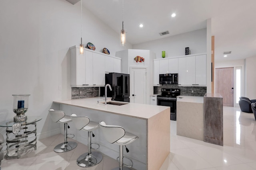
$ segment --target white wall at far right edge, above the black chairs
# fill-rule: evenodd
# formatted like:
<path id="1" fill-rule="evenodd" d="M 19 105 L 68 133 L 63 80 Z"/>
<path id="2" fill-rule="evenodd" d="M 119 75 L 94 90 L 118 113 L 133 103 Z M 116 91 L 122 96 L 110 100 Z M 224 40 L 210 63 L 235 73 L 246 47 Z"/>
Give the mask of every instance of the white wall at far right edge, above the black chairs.
<path id="1" fill-rule="evenodd" d="M 246 63 L 246 97 L 256 99 L 256 57 L 248 57 Z"/>

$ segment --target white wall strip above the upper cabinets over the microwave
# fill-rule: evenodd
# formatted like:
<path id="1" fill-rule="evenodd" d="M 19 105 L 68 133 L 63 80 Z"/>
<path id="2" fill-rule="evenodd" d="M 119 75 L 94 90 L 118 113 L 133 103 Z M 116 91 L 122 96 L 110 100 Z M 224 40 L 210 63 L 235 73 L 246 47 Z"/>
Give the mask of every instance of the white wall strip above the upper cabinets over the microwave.
<path id="1" fill-rule="evenodd" d="M 185 55 L 185 47 L 189 47 L 190 54 L 206 53 L 206 28 L 132 45 L 133 49 L 153 51 L 156 59 L 162 58 L 162 51 L 166 57 Z"/>

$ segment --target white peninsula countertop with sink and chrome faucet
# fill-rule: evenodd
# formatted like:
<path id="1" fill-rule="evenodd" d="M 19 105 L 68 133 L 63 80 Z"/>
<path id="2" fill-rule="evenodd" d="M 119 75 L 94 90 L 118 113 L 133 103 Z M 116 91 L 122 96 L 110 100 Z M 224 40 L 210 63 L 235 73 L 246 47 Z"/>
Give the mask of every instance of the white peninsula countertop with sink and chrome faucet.
<path id="1" fill-rule="evenodd" d="M 110 101 L 110 98 L 108 98 L 108 101 Z M 112 102 L 115 102 L 115 101 L 112 101 Z M 54 101 L 54 103 L 105 111 L 105 112 L 114 113 L 118 115 L 136 117 L 139 119 L 149 119 L 150 117 L 157 115 L 159 112 L 165 109 L 170 109 L 170 107 L 166 107 L 166 106 L 155 106 L 155 105 L 134 104 L 134 103 L 128 103 L 122 106 L 116 106 L 116 105 L 110 105 L 110 104 L 105 105 L 104 97 L 62 100 L 62 101 Z M 126 103 L 126 102 L 118 102 L 118 103 Z"/>

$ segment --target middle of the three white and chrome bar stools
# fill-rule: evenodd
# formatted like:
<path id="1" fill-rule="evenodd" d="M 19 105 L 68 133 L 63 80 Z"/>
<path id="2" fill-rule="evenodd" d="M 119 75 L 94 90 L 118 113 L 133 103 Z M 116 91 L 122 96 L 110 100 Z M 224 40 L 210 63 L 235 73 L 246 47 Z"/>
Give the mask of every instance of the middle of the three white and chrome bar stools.
<path id="1" fill-rule="evenodd" d="M 77 116 L 75 113 L 72 113 L 70 117 L 74 121 L 77 130 L 88 132 L 88 152 L 80 155 L 76 160 L 76 164 L 82 167 L 91 167 L 100 163 L 103 157 L 102 154 L 100 152 L 92 152 L 92 149 L 94 149 L 92 148 L 92 136 L 94 137 L 92 131 L 99 127 L 99 123 L 90 121 L 86 116 Z M 97 143 L 93 144 L 98 145 Z M 99 147 L 100 145 L 98 145 Z"/>

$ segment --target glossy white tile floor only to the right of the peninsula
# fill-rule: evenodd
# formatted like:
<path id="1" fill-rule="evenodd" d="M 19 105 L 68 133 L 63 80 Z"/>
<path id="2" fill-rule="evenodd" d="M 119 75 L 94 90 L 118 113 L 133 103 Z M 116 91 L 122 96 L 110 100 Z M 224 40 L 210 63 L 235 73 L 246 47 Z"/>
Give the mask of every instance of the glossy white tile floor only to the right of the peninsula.
<path id="1" fill-rule="evenodd" d="M 170 124 L 170 154 L 160 170 L 256 170 L 253 113 L 223 107 L 223 147 L 178 136 L 176 121 Z"/>

